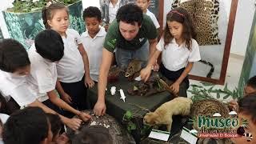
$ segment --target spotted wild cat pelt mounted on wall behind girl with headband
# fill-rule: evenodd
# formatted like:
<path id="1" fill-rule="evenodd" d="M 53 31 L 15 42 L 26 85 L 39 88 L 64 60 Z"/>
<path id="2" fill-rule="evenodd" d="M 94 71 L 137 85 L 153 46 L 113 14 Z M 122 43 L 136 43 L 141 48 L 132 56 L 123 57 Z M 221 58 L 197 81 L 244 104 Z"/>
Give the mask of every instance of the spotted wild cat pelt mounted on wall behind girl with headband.
<path id="1" fill-rule="evenodd" d="M 175 7 L 182 7 L 190 14 L 199 46 L 221 44 L 218 38 L 219 0 L 174 0 L 172 8 Z"/>

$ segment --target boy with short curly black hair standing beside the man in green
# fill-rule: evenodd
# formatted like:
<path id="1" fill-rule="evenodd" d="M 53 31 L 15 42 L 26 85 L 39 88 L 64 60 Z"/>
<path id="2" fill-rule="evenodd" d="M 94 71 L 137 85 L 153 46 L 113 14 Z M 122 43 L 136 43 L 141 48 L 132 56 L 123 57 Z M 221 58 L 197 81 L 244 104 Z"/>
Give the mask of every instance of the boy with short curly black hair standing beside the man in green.
<path id="1" fill-rule="evenodd" d="M 84 46 L 90 62 L 90 78 L 98 82 L 99 66 L 102 62 L 102 48 L 106 36 L 102 22 L 101 11 L 98 7 L 90 6 L 83 11 L 83 19 L 87 31 L 81 34 L 82 45 Z"/>

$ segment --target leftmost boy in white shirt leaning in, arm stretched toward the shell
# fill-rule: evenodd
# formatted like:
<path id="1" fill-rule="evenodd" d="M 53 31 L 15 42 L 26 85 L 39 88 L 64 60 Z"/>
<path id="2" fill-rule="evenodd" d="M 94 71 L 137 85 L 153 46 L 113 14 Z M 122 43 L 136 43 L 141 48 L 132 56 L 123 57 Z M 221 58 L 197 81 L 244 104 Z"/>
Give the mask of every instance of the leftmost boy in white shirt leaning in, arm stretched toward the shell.
<path id="1" fill-rule="evenodd" d="M 4 96 L 11 96 L 19 106 L 38 106 L 47 113 L 57 114 L 54 110 L 38 101 L 37 96 L 30 91 L 26 81 L 30 74 L 30 59 L 25 48 L 13 39 L 0 41 L 0 92 Z M 65 118 L 59 115 L 62 122 L 71 129 L 78 129 L 79 119 Z"/>

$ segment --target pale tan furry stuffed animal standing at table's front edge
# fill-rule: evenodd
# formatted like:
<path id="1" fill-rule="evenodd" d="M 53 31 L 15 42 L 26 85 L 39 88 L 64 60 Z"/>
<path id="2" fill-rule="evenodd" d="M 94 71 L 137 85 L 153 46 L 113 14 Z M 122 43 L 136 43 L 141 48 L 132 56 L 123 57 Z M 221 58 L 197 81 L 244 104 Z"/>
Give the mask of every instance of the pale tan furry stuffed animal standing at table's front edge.
<path id="1" fill-rule="evenodd" d="M 173 115 L 189 115 L 190 107 L 192 105 L 190 98 L 178 97 L 166 102 L 158 107 L 154 112 L 147 113 L 144 116 L 143 122 L 146 125 L 166 125 L 167 130 L 170 131 L 173 122 Z"/>

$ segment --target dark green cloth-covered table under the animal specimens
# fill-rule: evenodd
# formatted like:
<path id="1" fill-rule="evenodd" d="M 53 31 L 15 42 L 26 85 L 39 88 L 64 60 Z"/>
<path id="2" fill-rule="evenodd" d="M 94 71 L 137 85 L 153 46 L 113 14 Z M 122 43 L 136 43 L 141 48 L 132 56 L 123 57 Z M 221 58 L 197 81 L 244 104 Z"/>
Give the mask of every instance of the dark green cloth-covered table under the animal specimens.
<path id="1" fill-rule="evenodd" d="M 97 85 L 97 84 L 96 84 Z M 116 93 L 115 95 L 110 94 L 110 88 L 111 86 L 116 86 Z M 118 122 L 122 123 L 123 115 L 126 113 L 127 110 L 130 110 L 133 114 L 141 115 L 143 116 L 148 112 L 146 110 L 142 110 L 143 108 L 148 109 L 150 111 L 154 111 L 158 108 L 158 106 L 161 106 L 162 103 L 170 101 L 174 98 L 174 96 L 170 95 L 168 92 L 162 92 L 159 94 L 153 94 L 150 96 L 131 96 L 127 93 L 127 90 L 132 86 L 130 82 L 127 81 L 126 78 L 120 77 L 118 79 L 118 82 L 109 83 L 107 84 L 107 90 L 106 90 L 106 113 L 110 114 L 114 118 L 118 120 Z M 118 90 L 124 90 L 124 93 L 126 95 L 126 102 L 123 102 L 120 98 L 120 93 Z M 185 89 L 185 83 L 180 86 L 180 94 L 185 95 L 186 89 Z M 94 108 L 95 102 L 97 102 L 98 98 L 98 86 L 94 86 L 92 89 L 88 90 L 87 96 L 90 101 L 90 105 L 92 106 L 92 109 Z M 135 124 L 137 126 L 142 126 L 143 119 L 138 120 Z M 173 127 L 171 130 L 171 133 L 176 134 L 178 130 L 182 128 L 182 122 L 181 122 L 180 116 L 177 118 L 174 117 Z M 133 134 L 134 139 L 136 142 L 139 141 L 140 136 L 139 134 Z"/>

